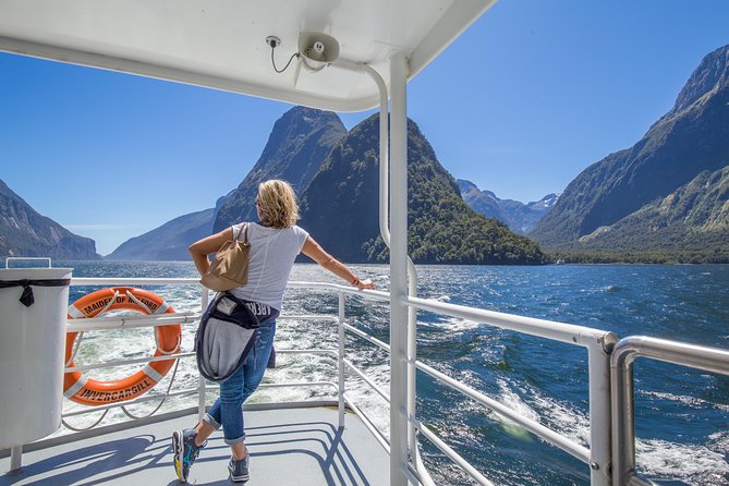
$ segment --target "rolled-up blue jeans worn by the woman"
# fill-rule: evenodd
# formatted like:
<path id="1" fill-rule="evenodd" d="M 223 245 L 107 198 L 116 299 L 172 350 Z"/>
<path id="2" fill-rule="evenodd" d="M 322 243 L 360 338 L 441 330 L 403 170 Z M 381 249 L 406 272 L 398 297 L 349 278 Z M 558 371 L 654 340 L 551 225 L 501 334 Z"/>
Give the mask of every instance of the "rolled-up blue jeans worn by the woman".
<path id="1" fill-rule="evenodd" d="M 253 352 L 238 372 L 220 384 L 220 398 L 205 414 L 203 421 L 214 428 L 217 429 L 222 424 L 224 440 L 229 446 L 245 440 L 243 402 L 256 391 L 264 377 L 274 347 L 274 336 L 276 336 L 276 319 L 260 325 Z"/>

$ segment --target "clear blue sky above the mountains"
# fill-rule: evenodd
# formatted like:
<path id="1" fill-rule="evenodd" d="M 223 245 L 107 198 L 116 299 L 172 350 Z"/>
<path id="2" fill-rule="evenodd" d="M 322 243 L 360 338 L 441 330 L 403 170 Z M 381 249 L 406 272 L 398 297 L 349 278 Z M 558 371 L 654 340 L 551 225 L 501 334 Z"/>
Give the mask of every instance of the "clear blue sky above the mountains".
<path id="1" fill-rule="evenodd" d="M 410 84 L 409 114 L 454 177 L 537 201 L 637 142 L 728 25 L 727 0 L 501 0 Z M 212 207 L 290 108 L 0 53 L 0 179 L 108 254 Z"/>

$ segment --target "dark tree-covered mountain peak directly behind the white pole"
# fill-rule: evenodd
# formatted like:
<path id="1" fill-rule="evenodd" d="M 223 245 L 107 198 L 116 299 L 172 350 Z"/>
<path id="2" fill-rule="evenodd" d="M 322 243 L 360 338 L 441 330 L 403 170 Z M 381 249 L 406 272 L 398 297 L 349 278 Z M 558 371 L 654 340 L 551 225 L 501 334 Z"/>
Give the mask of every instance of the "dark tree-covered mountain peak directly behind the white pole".
<path id="1" fill-rule="evenodd" d="M 379 236 L 378 116 L 337 144 L 302 195 L 302 226 L 345 262 L 387 262 Z M 408 120 L 409 253 L 423 264 L 538 264 L 530 240 L 485 219 L 461 198 L 420 127 Z M 336 230 L 332 230 L 336 229 Z"/>

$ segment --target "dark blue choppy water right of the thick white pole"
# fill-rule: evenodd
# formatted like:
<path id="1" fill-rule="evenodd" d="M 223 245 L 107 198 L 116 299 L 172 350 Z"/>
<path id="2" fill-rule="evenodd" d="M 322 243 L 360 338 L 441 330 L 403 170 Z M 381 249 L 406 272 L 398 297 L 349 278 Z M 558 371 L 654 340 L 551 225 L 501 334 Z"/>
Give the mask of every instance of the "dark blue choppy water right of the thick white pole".
<path id="1" fill-rule="evenodd" d="M 729 348 L 726 266 L 425 267 L 421 276 L 423 293 L 451 303 L 611 330 L 619 337 L 646 335 Z M 421 319 L 442 323 L 428 315 Z M 445 340 L 442 332 L 425 326 L 421 337 L 420 359 L 440 363 L 441 370 L 511 406 L 538 413 L 543 424 L 588 446 L 584 350 L 484 327 L 450 332 Z M 488 414 L 474 418 L 476 406 L 467 400 L 423 385 L 423 410 L 448 397 L 450 410 L 434 413 L 433 421 L 462 442 L 465 455 L 477 458 L 482 471 L 496 471 L 488 475 L 496 483 L 588 483 L 586 466 L 568 454 Z M 639 360 L 635 385 L 641 471 L 685 484 L 729 484 L 729 379 Z"/>

